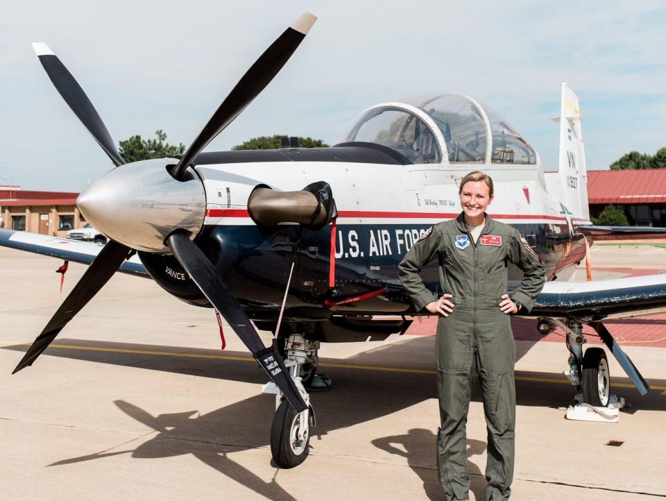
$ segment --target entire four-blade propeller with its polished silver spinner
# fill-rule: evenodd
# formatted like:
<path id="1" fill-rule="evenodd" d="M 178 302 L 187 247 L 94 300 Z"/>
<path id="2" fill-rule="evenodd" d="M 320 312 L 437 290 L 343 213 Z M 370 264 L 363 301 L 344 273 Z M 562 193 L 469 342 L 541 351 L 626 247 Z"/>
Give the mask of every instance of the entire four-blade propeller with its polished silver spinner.
<path id="1" fill-rule="evenodd" d="M 175 165 L 164 160 L 125 164 L 99 114 L 65 65 L 46 44 L 33 44 L 56 90 L 117 168 L 92 183 L 77 200 L 87 221 L 110 240 L 28 348 L 15 373 L 33 364 L 133 250 L 172 253 L 296 411 L 307 409 L 275 346 L 264 347 L 237 299 L 194 244 L 203 226 L 206 203 L 203 184 L 188 167 L 278 74 L 315 21 L 314 15 L 305 12 L 259 56 Z"/>

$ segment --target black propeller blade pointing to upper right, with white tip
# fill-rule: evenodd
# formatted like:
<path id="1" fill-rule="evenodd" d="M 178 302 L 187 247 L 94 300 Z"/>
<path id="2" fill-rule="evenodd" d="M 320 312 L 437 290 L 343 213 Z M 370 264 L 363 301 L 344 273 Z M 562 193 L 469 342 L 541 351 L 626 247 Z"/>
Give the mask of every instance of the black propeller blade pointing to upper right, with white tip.
<path id="1" fill-rule="evenodd" d="M 222 132 L 232 121 L 259 95 L 273 80 L 291 54 L 305 38 L 317 18 L 305 12 L 255 61 L 239 80 L 208 123 L 201 130 L 194 142 L 189 145 L 180 162 L 171 171 L 174 178 L 180 179 L 196 155 Z"/>

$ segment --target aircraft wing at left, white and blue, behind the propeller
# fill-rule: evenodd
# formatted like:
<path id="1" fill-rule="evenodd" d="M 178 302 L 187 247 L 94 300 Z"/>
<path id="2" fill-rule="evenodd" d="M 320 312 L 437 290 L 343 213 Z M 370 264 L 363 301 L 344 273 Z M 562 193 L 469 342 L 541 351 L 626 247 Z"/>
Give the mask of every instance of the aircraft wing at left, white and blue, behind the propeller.
<path id="1" fill-rule="evenodd" d="M 25 231 L 1 230 L 0 246 L 19 250 L 26 250 L 35 254 L 43 254 L 51 257 L 60 257 L 76 263 L 90 264 L 97 257 L 103 246 L 93 242 L 69 240 L 64 238 L 49 237 L 48 235 L 37 235 Z M 130 275 L 148 277 L 144 265 L 139 261 L 136 254 L 123 262 L 118 271 Z"/>

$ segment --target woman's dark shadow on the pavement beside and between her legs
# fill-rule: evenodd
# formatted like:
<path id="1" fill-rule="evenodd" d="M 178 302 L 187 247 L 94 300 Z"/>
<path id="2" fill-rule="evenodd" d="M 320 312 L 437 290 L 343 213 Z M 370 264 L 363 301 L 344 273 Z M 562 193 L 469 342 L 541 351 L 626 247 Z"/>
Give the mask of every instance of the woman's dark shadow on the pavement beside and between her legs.
<path id="1" fill-rule="evenodd" d="M 423 481 L 423 490 L 431 500 L 444 498 L 444 489 L 439 483 L 436 467 L 437 437 L 431 430 L 412 428 L 404 435 L 384 436 L 372 441 L 375 447 L 398 456 L 406 457 L 409 468 Z M 396 447 L 402 445 L 402 448 Z M 468 470 L 472 483 L 470 490 L 477 500 L 486 498 L 484 475 L 479 466 L 469 460 L 470 457 L 483 454 L 486 443 L 479 440 L 467 440 Z"/>

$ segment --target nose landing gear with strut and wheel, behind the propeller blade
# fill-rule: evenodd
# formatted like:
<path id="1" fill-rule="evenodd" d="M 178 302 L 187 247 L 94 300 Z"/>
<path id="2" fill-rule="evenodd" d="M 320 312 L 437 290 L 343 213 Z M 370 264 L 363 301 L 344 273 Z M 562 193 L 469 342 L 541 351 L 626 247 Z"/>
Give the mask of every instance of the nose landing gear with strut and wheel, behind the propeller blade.
<path id="1" fill-rule="evenodd" d="M 289 369 L 296 388 L 308 406 L 305 411 L 296 412 L 273 382 L 264 384 L 262 389 L 263 393 L 275 394 L 276 411 L 271 426 L 271 454 L 280 468 L 298 466 L 305 461 L 309 452 L 310 430 L 316 425 L 316 419 L 306 387 L 321 391 L 331 386 L 328 377 L 316 373 L 319 364 L 318 348 L 318 341 L 305 339 L 302 334 L 292 334 L 284 346 L 284 366 Z"/>

